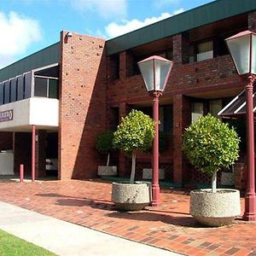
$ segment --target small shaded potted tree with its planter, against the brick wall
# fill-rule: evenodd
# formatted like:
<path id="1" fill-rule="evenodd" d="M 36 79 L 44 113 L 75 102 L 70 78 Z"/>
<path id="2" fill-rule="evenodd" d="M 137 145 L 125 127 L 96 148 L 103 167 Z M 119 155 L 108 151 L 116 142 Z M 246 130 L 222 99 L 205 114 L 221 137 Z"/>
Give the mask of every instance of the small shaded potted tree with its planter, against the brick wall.
<path id="1" fill-rule="evenodd" d="M 106 166 L 98 166 L 99 176 L 117 175 L 117 166 L 109 166 L 110 152 L 113 151 L 113 131 L 103 131 L 96 138 L 96 149 L 101 154 L 108 154 Z"/>

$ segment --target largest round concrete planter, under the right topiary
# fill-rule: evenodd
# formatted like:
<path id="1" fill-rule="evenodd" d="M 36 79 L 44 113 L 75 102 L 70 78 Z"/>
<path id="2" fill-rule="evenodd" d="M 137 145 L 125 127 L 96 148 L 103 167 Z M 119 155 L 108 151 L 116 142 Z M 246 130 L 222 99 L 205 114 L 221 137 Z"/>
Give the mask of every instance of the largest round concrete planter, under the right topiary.
<path id="1" fill-rule="evenodd" d="M 231 224 L 241 214 L 240 192 L 236 189 L 200 189 L 190 192 L 190 214 L 199 223 L 218 227 Z"/>

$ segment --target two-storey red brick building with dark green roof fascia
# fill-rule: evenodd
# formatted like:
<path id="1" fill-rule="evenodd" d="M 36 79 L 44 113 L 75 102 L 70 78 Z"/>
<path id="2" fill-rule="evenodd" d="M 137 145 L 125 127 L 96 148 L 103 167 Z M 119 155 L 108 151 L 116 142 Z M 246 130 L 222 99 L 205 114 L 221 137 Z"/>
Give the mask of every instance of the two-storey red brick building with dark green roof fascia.
<path id="1" fill-rule="evenodd" d="M 243 90 L 224 39 L 247 29 L 256 32 L 254 0 L 218 0 L 107 41 L 61 32 L 60 42 L 0 70 L 0 150 L 13 151 L 16 173 L 24 164 L 26 173 L 34 166 L 45 176 L 45 159 L 54 158 L 61 179 L 96 177 L 104 162 L 96 136 L 115 129 L 131 108 L 152 112 L 137 61 L 160 55 L 174 61 L 160 98 L 168 142 L 160 168 L 168 182 L 207 183 L 183 156 L 183 130 L 198 116 L 217 115 Z M 112 161 L 119 177 L 129 176 L 124 154 Z M 150 166 L 150 155 L 138 154 L 137 177 Z"/>

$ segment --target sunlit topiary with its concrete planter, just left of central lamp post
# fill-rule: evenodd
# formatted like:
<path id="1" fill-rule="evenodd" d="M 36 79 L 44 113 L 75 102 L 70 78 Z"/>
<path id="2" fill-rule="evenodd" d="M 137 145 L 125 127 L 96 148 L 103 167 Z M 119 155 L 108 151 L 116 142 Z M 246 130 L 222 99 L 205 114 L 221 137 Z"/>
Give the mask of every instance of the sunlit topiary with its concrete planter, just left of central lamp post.
<path id="1" fill-rule="evenodd" d="M 113 133 L 113 146 L 131 155 L 130 183 L 113 183 L 112 201 L 120 210 L 142 210 L 151 201 L 151 185 L 135 182 L 136 151 L 148 151 L 154 139 L 154 120 L 132 110 Z"/>

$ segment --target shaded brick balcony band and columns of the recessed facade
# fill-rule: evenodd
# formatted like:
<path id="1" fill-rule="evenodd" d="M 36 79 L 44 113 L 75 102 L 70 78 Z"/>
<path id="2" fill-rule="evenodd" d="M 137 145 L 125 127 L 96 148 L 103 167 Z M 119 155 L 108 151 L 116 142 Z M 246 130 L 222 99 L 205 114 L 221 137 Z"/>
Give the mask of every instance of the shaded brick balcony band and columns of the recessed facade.
<path id="1" fill-rule="evenodd" d="M 248 28 L 254 30 L 256 12 L 248 14 L 247 19 Z M 172 147 L 167 149 L 165 156 L 172 158 L 171 181 L 184 184 L 190 183 L 195 177 L 181 149 L 183 131 L 191 122 L 191 97 L 218 99 L 229 95 L 235 96 L 243 89 L 244 80 L 236 73 L 231 56 L 228 54 L 188 63 L 189 32 L 172 37 L 172 60 L 174 61 L 172 73 L 166 85 L 166 91 L 160 98 L 160 104 L 169 102 L 173 107 L 172 140 L 170 140 Z M 108 108 L 119 108 L 119 116 L 124 113 L 124 106 L 127 104 L 131 106 L 151 105 L 142 76 L 131 73 L 131 62 L 131 51 L 121 52 L 119 54 L 119 79 L 108 80 Z M 146 159 L 148 160 L 145 162 L 143 156 L 144 165 L 150 165 L 150 157 Z M 129 163 L 130 160 L 123 154 L 119 154 L 120 176 L 128 176 Z"/>

